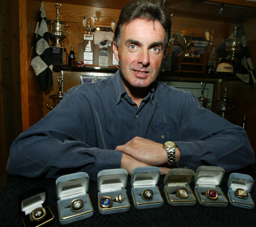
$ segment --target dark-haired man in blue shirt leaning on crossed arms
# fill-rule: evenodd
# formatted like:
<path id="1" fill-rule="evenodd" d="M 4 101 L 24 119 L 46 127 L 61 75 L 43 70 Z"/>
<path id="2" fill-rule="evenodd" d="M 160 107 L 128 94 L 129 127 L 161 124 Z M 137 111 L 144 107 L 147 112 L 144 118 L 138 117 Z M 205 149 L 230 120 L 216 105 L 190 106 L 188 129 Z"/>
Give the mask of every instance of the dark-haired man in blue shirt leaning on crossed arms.
<path id="1" fill-rule="evenodd" d="M 155 81 L 170 28 L 170 16 L 159 3 L 128 3 L 113 43 L 120 69 L 105 80 L 71 88 L 46 117 L 21 133 L 11 146 L 9 174 L 58 177 L 85 171 L 96 180 L 99 171 L 112 168 L 131 174 L 135 167 L 159 166 L 166 174 L 173 163 L 226 171 L 254 163 L 242 127 L 202 108 L 193 94 Z M 175 152 L 168 145 L 177 145 Z"/>

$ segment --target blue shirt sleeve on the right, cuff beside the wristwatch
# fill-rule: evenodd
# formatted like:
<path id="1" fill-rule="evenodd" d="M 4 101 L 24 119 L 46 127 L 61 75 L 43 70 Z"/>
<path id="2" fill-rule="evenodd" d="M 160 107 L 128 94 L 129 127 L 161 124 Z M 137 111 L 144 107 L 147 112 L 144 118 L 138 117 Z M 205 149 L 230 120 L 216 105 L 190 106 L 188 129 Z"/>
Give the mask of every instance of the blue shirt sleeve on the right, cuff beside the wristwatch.
<path id="1" fill-rule="evenodd" d="M 175 141 L 181 152 L 177 167 L 220 166 L 225 171 L 253 164 L 254 151 L 246 131 L 203 108 L 196 97 L 187 100 Z"/>

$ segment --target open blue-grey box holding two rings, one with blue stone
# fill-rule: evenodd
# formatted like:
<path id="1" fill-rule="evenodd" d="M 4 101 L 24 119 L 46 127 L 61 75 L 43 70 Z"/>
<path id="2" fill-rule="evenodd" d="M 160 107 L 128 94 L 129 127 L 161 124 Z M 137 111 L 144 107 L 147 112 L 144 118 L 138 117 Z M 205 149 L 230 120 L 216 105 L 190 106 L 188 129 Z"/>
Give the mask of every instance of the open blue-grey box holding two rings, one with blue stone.
<path id="1" fill-rule="evenodd" d="M 98 207 L 101 214 L 125 212 L 130 209 L 130 202 L 126 191 L 128 173 L 125 169 L 109 169 L 98 172 Z M 121 194 L 123 201 L 114 201 Z M 112 205 L 102 207 L 100 201 L 105 196 L 112 198 Z M 110 200 L 109 200 L 110 201 Z"/>

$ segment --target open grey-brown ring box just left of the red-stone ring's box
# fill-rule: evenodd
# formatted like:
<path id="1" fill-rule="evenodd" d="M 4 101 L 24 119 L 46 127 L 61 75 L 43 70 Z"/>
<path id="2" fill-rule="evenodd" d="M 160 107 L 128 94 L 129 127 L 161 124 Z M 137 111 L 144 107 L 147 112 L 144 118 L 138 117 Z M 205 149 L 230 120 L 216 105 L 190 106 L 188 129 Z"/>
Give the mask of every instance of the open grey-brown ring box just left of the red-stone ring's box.
<path id="1" fill-rule="evenodd" d="M 167 172 L 164 178 L 164 192 L 167 203 L 172 206 L 192 206 L 197 202 L 189 184 L 194 179 L 195 172 L 190 169 L 174 168 Z M 188 196 L 179 198 L 176 191 L 180 188 L 186 188 Z"/>

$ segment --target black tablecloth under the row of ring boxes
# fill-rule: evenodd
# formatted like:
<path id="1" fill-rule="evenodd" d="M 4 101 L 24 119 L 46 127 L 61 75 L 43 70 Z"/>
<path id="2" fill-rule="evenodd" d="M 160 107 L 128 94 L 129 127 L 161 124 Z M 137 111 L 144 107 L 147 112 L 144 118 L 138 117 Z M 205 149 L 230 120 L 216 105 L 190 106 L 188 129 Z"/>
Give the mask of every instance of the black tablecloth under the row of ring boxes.
<path id="1" fill-rule="evenodd" d="M 224 175 L 220 185 L 227 197 L 227 182 L 229 173 Z M 48 190 L 48 206 L 54 213 L 52 226 L 255 226 L 256 208 L 245 209 L 234 207 L 230 203 L 227 207 L 205 207 L 197 203 L 193 206 L 171 206 L 164 194 L 164 176 L 160 176 L 158 187 L 164 197 L 164 204 L 159 208 L 136 209 L 131 197 L 131 178 L 127 180 L 127 193 L 131 203 L 130 210 L 123 213 L 102 215 L 98 210 L 97 182 L 90 180 L 89 196 L 93 204 L 93 216 L 83 220 L 62 225 L 59 222 L 57 210 L 57 196 L 55 179 L 31 179 L 20 176 L 9 176 L 6 187 L 0 195 L 0 226 L 23 226 L 18 211 L 18 196 L 35 187 L 45 187 Z M 194 182 L 190 184 L 194 191 Z M 256 186 L 251 191 L 256 200 Z M 228 198 L 228 197 L 227 197 Z"/>

